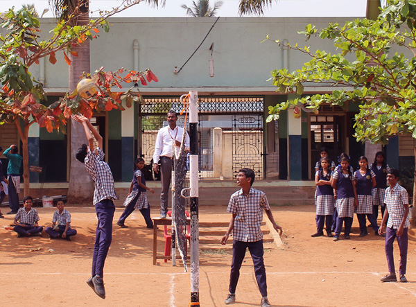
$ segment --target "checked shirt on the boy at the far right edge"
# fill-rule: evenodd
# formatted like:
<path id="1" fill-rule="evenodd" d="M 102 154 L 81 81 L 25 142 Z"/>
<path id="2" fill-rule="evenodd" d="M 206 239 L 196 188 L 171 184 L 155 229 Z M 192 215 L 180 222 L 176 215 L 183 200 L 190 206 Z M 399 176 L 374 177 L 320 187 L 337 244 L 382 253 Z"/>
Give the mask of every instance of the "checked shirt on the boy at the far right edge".
<path id="1" fill-rule="evenodd" d="M 390 187 L 385 189 L 384 203 L 387 206 L 388 221 L 387 227 L 393 229 L 399 229 L 401 220 L 404 216 L 404 204 L 409 203 L 409 196 L 406 188 L 396 184 L 394 188 Z M 407 216 L 404 222 L 404 228 L 410 226 L 409 216 Z"/>

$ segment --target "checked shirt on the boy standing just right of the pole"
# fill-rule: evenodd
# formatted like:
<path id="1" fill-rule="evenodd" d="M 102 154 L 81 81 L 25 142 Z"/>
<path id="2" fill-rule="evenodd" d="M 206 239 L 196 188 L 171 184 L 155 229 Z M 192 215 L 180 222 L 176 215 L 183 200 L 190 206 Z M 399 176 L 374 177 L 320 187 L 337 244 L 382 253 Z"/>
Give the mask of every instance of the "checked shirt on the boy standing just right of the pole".
<path id="1" fill-rule="evenodd" d="M 234 240 L 243 242 L 257 242 L 263 238 L 261 221 L 263 209 L 270 210 L 266 194 L 262 191 L 250 188 L 248 196 L 243 189 L 231 195 L 227 212 L 236 214 L 234 219 Z"/>

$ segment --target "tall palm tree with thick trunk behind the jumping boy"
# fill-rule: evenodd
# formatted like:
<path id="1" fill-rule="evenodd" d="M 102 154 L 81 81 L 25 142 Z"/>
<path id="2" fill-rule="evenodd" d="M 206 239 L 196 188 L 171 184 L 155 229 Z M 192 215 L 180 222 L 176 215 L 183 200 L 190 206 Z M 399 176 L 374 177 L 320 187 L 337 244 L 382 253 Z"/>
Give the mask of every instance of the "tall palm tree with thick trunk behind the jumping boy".
<path id="1" fill-rule="evenodd" d="M 146 2 L 153 6 L 164 6 L 165 0 L 126 0 L 123 1 L 128 6 L 133 6 L 140 2 Z M 55 17 L 60 21 L 69 21 L 73 26 L 83 26 L 89 20 L 89 1 L 88 0 L 49 0 L 49 5 L 53 8 Z M 119 6 L 121 8 L 121 6 Z M 76 16 L 76 18 L 73 18 Z M 78 53 L 78 57 L 71 57 L 72 64 L 69 67 L 69 91 L 75 89 L 80 75 L 85 71 L 89 73 L 89 40 L 84 44 L 78 44 L 74 47 L 74 51 Z M 71 127 L 70 134 L 70 150 L 77 148 L 80 140 L 85 139 L 82 125 L 74 124 L 69 121 Z M 86 140 L 86 139 L 85 139 Z M 87 202 L 91 198 L 92 179 L 74 157 L 70 155 L 69 167 L 69 189 L 68 198 L 71 202 Z"/>

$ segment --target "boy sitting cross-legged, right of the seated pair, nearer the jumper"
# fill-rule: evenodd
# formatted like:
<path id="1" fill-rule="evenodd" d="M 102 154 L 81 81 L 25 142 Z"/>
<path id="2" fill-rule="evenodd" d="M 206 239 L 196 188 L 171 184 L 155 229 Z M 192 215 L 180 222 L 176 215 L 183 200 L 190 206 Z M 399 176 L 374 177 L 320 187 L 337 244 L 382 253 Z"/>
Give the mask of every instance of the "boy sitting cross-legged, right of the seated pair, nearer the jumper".
<path id="1" fill-rule="evenodd" d="M 76 235 L 76 230 L 71 229 L 71 213 L 67 209 L 64 209 L 64 202 L 58 200 L 56 209 L 53 213 L 52 227 L 46 227 L 45 232 L 49 234 L 49 238 L 63 238 L 71 240 L 71 236 Z"/>

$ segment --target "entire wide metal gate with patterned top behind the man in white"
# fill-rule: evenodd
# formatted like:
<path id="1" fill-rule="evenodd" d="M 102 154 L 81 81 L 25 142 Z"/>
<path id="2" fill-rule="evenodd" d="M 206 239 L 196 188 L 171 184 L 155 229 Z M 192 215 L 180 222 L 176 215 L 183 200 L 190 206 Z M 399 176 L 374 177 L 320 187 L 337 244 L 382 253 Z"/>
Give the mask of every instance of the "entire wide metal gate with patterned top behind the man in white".
<path id="1" fill-rule="evenodd" d="M 179 97 L 145 98 L 139 107 L 138 152 L 150 163 L 155 151 L 157 132 L 166 123 L 166 114 L 173 109 L 179 116 L 177 125 L 184 126 L 183 105 Z M 237 115 L 240 114 L 240 115 Z M 219 119 L 220 118 L 220 119 Z M 217 125 L 218 124 L 218 125 Z M 263 179 L 263 98 L 262 97 L 199 97 L 198 146 L 200 178 L 213 176 L 213 129 L 223 128 L 232 134 L 232 176 L 240 168 L 250 167 Z M 234 148 L 235 147 L 235 148 Z"/>

